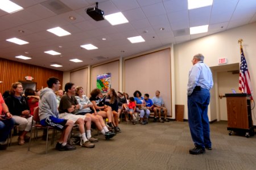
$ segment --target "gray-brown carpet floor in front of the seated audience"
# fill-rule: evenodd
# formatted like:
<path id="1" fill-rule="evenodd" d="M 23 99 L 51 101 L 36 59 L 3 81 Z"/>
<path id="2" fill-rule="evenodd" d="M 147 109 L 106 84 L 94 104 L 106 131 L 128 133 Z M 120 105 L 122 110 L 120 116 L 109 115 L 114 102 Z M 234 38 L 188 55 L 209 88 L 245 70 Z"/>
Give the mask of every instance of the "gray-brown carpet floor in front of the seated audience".
<path id="1" fill-rule="evenodd" d="M 77 146 L 75 151 L 57 151 L 55 144 L 45 154 L 46 141 L 13 145 L 0 151 L 0 169 L 256 169 L 256 137 L 229 136 L 227 122 L 210 124 L 212 151 L 190 155 L 193 148 L 188 122 L 150 122 L 132 125 L 122 122 L 122 133 L 95 148 Z M 97 132 L 93 131 L 96 135 Z"/>

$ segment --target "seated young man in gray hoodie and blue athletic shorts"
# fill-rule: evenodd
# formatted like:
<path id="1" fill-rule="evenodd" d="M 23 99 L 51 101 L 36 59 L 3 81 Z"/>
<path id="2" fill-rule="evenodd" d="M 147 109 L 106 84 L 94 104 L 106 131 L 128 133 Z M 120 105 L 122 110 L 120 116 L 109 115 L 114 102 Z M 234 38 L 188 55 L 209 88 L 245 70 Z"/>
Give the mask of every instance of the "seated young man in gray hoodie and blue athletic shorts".
<path id="1" fill-rule="evenodd" d="M 39 117 L 40 124 L 43 126 L 52 126 L 57 130 L 62 130 L 59 142 L 56 144 L 56 150 L 71 151 L 75 150 L 75 146 L 67 144 L 68 136 L 71 133 L 74 122 L 59 118 L 57 109 L 55 91 L 60 88 L 60 80 L 55 77 L 50 77 L 47 80 L 48 87 L 44 88 L 40 93 L 39 100 Z"/>

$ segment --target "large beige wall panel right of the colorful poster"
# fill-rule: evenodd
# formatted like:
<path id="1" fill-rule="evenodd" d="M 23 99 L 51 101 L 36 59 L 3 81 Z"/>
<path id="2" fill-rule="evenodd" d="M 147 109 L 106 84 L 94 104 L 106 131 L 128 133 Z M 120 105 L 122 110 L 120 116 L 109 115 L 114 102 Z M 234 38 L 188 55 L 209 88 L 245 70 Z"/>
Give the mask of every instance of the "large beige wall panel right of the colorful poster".
<path id="1" fill-rule="evenodd" d="M 133 96 L 134 91 L 139 90 L 155 96 L 155 91 L 160 91 L 168 110 L 172 116 L 171 94 L 171 49 L 163 49 L 156 52 L 142 54 L 138 57 L 124 58 L 124 91 Z"/>

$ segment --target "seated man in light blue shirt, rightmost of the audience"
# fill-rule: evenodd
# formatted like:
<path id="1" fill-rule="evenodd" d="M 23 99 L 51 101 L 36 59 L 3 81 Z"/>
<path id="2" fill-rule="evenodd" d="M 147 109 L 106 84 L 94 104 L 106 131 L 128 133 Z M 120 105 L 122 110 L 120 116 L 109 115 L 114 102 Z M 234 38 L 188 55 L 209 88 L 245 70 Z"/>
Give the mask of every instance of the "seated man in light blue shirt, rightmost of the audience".
<path id="1" fill-rule="evenodd" d="M 160 97 L 160 91 L 156 91 L 155 92 L 155 97 L 153 97 L 152 99 L 153 103 L 154 103 L 154 113 L 155 113 L 155 117 L 154 117 L 154 122 L 156 122 L 156 116 L 158 114 L 159 116 L 159 122 L 164 123 L 164 121 L 169 122 L 168 118 L 167 118 L 167 108 L 164 107 L 164 101 L 163 98 Z M 164 120 L 161 119 L 161 112 L 164 113 Z"/>

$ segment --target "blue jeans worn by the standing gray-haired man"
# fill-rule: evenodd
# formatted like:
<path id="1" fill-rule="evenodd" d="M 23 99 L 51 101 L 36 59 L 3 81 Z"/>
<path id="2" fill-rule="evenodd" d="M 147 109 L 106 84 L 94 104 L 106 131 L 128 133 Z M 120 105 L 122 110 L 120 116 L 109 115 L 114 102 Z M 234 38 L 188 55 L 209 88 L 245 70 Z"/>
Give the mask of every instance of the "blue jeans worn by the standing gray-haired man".
<path id="1" fill-rule="evenodd" d="M 188 96 L 188 124 L 195 146 L 212 147 L 210 142 L 210 126 L 208 119 L 208 105 L 210 92 L 201 88 Z"/>

